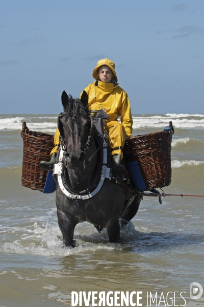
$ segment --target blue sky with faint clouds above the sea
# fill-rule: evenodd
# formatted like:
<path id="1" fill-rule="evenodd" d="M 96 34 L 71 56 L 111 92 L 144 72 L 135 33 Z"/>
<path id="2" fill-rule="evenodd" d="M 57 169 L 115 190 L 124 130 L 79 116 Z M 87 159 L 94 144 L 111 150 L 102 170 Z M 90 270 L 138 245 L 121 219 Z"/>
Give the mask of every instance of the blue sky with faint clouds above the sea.
<path id="1" fill-rule="evenodd" d="M 0 0 L 0 114 L 59 114 L 99 59 L 133 114 L 204 114 L 203 0 Z"/>

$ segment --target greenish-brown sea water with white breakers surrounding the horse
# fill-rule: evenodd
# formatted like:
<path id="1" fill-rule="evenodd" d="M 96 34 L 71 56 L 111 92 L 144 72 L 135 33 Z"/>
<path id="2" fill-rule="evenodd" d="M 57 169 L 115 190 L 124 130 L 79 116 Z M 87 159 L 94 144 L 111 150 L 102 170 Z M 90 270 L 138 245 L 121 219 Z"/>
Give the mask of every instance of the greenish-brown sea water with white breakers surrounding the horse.
<path id="1" fill-rule="evenodd" d="M 133 135 L 162 131 L 170 120 L 172 183 L 164 192 L 204 195 L 204 115 L 134 115 Z M 166 196 L 160 205 L 144 197 L 121 227 L 120 244 L 108 243 L 106 230 L 98 233 L 85 222 L 74 231 L 77 247 L 64 248 L 55 193 L 20 183 L 22 121 L 54 134 L 57 115 L 0 116 L 0 307 L 70 306 L 73 291 L 141 291 L 143 306 L 149 293 L 163 293 L 158 304 L 167 305 L 168 292 L 179 297 L 175 305 L 184 305 L 183 292 L 186 306 L 204 306 L 204 295 L 194 300 L 189 292 L 192 282 L 204 286 L 204 198 Z"/>

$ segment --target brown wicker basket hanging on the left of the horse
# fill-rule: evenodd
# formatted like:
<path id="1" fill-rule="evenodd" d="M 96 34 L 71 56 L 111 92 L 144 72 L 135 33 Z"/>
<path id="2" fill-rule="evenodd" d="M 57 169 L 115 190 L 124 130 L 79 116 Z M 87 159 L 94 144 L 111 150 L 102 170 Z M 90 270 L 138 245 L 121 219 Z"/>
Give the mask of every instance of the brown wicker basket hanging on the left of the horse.
<path id="1" fill-rule="evenodd" d="M 32 190 L 43 191 L 47 171 L 40 168 L 42 160 L 49 161 L 49 153 L 54 147 L 54 136 L 31 131 L 22 123 L 23 159 L 21 185 Z"/>

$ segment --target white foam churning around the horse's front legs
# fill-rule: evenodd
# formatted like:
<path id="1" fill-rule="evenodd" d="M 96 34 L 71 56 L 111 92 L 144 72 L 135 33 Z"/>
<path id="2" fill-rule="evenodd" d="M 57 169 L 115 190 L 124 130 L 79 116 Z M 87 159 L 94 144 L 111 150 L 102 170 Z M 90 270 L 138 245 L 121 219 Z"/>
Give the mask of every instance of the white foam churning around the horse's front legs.
<path id="1" fill-rule="evenodd" d="M 93 237 L 97 236 L 97 231 L 93 233 L 93 226 L 88 228 L 88 234 L 82 234 L 78 227 L 74 231 L 74 239 L 77 239 L 78 246 L 74 249 L 64 248 L 62 233 L 57 223 L 47 223 L 46 225 L 38 226 L 34 223 L 27 229 L 23 228 L 23 235 L 20 240 L 13 243 L 5 243 L 0 247 L 0 251 L 4 253 L 15 254 L 33 254 L 45 256 L 68 256 L 77 255 L 84 252 L 93 252 L 95 250 L 105 249 L 113 250 L 114 245 L 92 243 Z M 91 233 L 90 233 L 91 230 Z M 87 240 L 87 236 L 89 239 Z M 101 236 L 101 234 L 99 234 Z M 108 243 L 108 235 L 105 232 L 106 243 Z M 100 238 L 101 239 L 101 238 Z M 37 244 L 36 244 L 37 242 Z"/>

